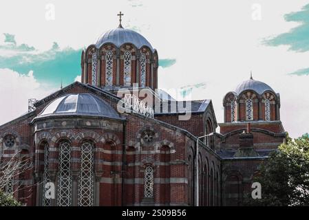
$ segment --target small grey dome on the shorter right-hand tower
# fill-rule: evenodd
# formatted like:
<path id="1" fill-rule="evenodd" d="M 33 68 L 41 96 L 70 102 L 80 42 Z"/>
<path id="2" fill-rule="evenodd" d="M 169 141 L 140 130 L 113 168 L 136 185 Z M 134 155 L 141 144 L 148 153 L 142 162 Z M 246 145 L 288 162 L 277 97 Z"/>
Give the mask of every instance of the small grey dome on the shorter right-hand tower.
<path id="1" fill-rule="evenodd" d="M 273 89 L 266 83 L 260 82 L 258 80 L 253 80 L 253 78 L 240 83 L 236 87 L 235 92 L 237 93 L 237 95 L 239 95 L 242 93 L 242 91 L 246 90 L 253 90 L 259 95 L 264 94 L 265 91 L 273 91 Z M 275 91 L 273 91 L 273 93 L 275 94 Z"/>

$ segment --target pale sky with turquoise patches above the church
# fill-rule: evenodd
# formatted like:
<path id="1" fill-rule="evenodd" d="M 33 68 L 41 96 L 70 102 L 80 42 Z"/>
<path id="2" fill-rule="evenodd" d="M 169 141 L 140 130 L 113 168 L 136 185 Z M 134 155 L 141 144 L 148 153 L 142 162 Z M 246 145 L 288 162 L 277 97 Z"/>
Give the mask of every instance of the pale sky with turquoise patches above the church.
<path id="1" fill-rule="evenodd" d="M 239 83 L 280 94 L 292 137 L 309 132 L 309 1 L 28 0 L 0 3 L 0 124 L 81 76 L 81 51 L 109 29 L 139 32 L 158 50 L 158 86 L 178 100 L 222 99 Z"/>

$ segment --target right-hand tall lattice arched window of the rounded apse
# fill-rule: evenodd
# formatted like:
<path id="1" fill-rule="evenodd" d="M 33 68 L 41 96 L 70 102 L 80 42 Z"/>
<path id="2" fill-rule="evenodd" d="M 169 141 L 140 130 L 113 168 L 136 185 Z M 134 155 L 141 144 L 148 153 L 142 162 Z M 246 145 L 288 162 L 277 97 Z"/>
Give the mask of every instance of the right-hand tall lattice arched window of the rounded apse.
<path id="1" fill-rule="evenodd" d="M 94 205 L 94 144 L 81 145 L 81 171 L 78 176 L 78 206 Z"/>

